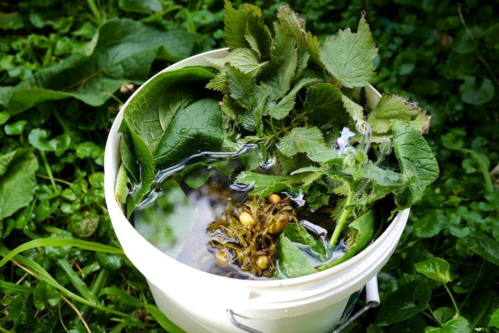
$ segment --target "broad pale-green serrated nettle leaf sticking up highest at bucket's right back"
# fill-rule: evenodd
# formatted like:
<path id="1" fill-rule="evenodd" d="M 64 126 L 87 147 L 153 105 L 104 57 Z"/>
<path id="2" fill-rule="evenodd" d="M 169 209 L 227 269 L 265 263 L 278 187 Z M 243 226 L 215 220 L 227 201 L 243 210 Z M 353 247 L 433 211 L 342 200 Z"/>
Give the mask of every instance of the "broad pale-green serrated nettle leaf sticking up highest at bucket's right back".
<path id="1" fill-rule="evenodd" d="M 371 37 L 365 14 L 362 14 L 356 33 L 350 28 L 339 30 L 335 36 L 324 40 L 320 59 L 338 84 L 353 88 L 364 87 L 375 75 L 373 59 L 378 48 Z"/>

